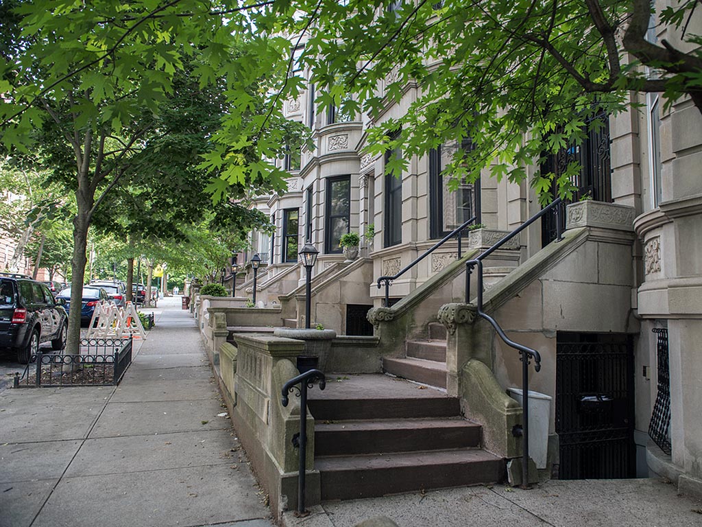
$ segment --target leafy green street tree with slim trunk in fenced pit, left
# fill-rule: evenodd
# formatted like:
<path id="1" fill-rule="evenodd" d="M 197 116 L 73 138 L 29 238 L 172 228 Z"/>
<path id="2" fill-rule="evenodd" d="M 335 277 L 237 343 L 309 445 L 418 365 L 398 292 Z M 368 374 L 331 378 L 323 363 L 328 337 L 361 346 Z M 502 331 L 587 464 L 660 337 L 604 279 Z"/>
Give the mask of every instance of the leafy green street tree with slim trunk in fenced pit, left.
<path id="1" fill-rule="evenodd" d="M 289 43 L 251 24 L 257 8 L 173 0 L 95 0 L 3 4 L 0 32 L 0 134 L 6 148 L 41 141 L 53 179 L 74 193 L 72 280 L 84 282 L 88 228 L 108 195 L 132 176 L 133 160 L 157 134 L 156 117 L 176 87 L 173 77 L 197 55 L 201 86 L 224 88 L 229 113 L 202 162 L 222 196 L 284 188 L 274 159 L 291 133 L 282 101 L 272 98 Z M 20 32 L 21 28 L 21 32 Z M 295 82 L 284 83 L 294 93 Z M 257 110 L 265 110 L 259 115 Z M 72 288 L 77 304 L 81 287 Z M 71 311 L 67 353 L 77 353 L 79 312 Z"/>

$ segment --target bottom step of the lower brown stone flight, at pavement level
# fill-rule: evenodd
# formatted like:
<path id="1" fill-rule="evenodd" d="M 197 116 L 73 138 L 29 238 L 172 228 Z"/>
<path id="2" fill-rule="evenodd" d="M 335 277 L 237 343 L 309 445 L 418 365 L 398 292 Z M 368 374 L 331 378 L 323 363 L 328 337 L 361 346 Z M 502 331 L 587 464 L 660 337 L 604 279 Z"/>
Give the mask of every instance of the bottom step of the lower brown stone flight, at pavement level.
<path id="1" fill-rule="evenodd" d="M 322 500 L 406 493 L 502 481 L 505 463 L 484 450 L 316 457 Z"/>

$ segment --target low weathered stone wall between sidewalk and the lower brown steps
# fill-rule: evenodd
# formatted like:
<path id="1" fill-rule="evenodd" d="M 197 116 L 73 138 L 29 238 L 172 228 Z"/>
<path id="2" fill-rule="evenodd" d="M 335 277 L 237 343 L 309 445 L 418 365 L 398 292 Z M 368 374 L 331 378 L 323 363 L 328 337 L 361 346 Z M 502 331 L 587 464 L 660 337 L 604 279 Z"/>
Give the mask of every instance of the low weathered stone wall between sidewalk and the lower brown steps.
<path id="1" fill-rule="evenodd" d="M 299 457 L 292 439 L 300 431 L 300 399 L 293 391 L 284 407 L 282 387 L 300 374 L 295 362 L 304 353 L 305 343 L 270 334 L 235 334 L 234 339 L 236 347 L 220 347 L 218 382 L 241 445 L 270 498 L 271 511 L 279 519 L 297 503 Z M 306 483 L 306 505 L 318 504 L 321 498 L 319 472 L 314 471 L 314 419 L 309 412 Z"/>

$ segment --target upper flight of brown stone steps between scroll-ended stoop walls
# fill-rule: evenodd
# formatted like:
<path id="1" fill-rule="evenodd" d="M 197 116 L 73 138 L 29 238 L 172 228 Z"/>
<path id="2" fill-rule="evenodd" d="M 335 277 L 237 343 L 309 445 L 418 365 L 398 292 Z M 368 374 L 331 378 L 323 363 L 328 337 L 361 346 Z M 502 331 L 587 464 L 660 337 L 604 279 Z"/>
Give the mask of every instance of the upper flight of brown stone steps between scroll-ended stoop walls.
<path id="1" fill-rule="evenodd" d="M 406 342 L 405 358 L 384 358 L 383 370 L 397 377 L 446 388 L 446 328 L 428 326 L 428 340 Z"/>

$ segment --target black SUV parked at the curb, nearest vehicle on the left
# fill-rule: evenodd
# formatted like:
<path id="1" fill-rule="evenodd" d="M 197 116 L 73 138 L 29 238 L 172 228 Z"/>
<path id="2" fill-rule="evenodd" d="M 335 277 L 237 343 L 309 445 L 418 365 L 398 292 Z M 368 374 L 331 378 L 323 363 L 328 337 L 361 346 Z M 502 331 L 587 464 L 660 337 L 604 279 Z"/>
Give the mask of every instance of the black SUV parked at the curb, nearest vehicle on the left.
<path id="1" fill-rule="evenodd" d="M 0 348 L 17 351 L 19 363 L 39 353 L 41 342 L 64 349 L 68 316 L 48 287 L 29 276 L 0 273 Z"/>

